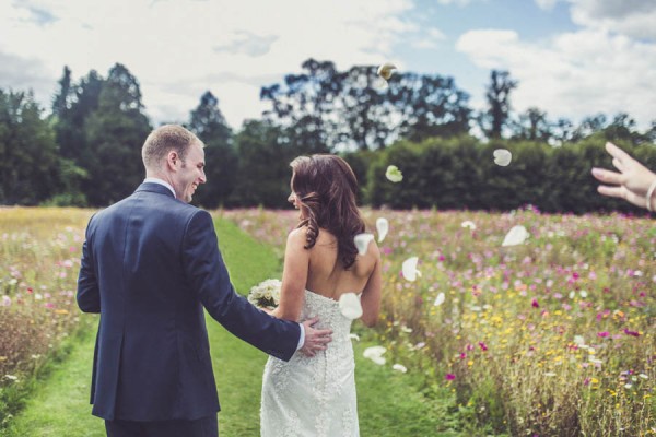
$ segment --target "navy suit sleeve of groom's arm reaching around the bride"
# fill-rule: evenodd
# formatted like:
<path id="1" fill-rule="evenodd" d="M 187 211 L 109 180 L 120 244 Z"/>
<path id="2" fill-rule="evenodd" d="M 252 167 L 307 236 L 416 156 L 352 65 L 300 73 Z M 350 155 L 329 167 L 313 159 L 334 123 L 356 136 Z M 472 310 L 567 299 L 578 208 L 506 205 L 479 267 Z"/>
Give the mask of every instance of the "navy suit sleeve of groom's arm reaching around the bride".
<path id="1" fill-rule="evenodd" d="M 298 323 L 280 320 L 237 295 L 221 252 L 212 217 L 197 211 L 183 240 L 183 265 L 191 290 L 210 316 L 239 339 L 277 358 L 289 361 L 298 345 Z"/>

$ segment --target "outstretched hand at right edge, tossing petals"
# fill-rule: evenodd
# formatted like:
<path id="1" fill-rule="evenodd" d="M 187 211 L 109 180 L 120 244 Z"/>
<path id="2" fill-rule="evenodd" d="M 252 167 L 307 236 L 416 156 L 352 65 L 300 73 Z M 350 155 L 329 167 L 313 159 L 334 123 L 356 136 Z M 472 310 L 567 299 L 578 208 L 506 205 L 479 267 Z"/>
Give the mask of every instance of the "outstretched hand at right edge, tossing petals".
<path id="1" fill-rule="evenodd" d="M 606 151 L 612 156 L 612 165 L 620 172 L 593 168 L 593 176 L 607 184 L 600 185 L 597 191 L 611 198 L 624 199 L 640 208 L 647 208 L 647 190 L 656 180 L 656 174 L 610 142 L 606 143 Z"/>

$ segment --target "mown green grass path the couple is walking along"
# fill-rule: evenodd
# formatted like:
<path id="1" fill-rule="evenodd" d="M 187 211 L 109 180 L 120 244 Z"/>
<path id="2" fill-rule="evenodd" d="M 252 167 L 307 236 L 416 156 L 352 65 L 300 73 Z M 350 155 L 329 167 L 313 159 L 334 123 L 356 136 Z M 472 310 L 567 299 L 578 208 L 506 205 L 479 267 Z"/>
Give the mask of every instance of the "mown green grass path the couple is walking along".
<path id="1" fill-rule="evenodd" d="M 235 225 L 216 222 L 219 244 L 233 284 L 241 293 L 267 277 L 279 276 L 273 251 L 243 234 Z M 237 340 L 208 318 L 210 347 L 222 411 L 222 437 L 259 435 L 259 398 L 266 355 Z M 7 437 L 104 436 L 103 421 L 91 415 L 89 386 L 95 330 L 81 334 L 70 355 L 44 380 L 25 410 L 5 430 Z M 446 405 L 429 405 L 413 388 L 411 374 L 378 367 L 362 358 L 363 344 L 354 344 L 360 427 L 363 437 L 457 436 L 448 430 Z M 455 424 L 454 424 L 455 425 Z"/>

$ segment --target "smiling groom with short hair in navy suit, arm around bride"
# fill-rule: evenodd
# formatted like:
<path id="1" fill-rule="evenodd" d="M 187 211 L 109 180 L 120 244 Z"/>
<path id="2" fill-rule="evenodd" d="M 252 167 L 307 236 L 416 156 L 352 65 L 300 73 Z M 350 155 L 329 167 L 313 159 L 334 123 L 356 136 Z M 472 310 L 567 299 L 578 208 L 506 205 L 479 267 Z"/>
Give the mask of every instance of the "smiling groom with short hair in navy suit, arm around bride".
<path id="1" fill-rule="evenodd" d="M 107 436 L 218 436 L 219 398 L 203 307 L 280 359 L 326 349 L 330 331 L 279 320 L 231 285 L 210 214 L 189 205 L 206 182 L 203 143 L 180 126 L 145 140 L 145 180 L 89 222 L 78 305 L 99 312 L 91 386 Z"/>

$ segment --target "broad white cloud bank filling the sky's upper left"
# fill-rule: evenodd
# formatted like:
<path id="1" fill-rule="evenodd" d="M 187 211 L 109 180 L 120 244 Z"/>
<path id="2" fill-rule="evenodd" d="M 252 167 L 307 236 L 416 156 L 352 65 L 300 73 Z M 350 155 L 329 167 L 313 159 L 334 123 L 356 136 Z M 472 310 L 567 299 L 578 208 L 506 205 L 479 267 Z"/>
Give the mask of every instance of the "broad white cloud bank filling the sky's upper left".
<path id="1" fill-rule="evenodd" d="M 91 69 L 105 75 L 121 62 L 140 81 L 155 121 L 186 119 L 211 90 L 233 127 L 244 116 L 259 116 L 261 85 L 300 71 L 307 58 L 338 68 L 377 64 L 390 58 L 401 35 L 415 31 L 399 17 L 412 0 L 333 0 L 312 8 L 303 0 L 1 3 L 0 52 L 38 60 L 40 78 L 54 78 L 49 90 L 65 64 L 75 79 Z M 223 81 L 212 80 L 221 74 Z M 261 78 L 270 81 L 258 83 Z M 177 91 L 183 88 L 189 94 Z M 37 92 L 37 98 L 49 102 L 50 93 Z"/>

